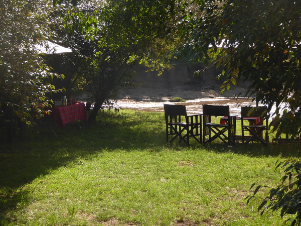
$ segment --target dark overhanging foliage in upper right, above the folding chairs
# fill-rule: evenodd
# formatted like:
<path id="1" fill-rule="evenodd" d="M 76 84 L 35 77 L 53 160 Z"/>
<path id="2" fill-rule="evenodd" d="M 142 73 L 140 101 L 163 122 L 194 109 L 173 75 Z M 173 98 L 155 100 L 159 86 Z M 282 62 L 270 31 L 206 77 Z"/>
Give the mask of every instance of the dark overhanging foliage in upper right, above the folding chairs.
<path id="1" fill-rule="evenodd" d="M 276 111 L 274 130 L 301 133 L 301 3 L 269 0 L 195 1 L 200 12 L 183 23 L 177 56 L 222 67 L 222 91 L 237 79 L 251 81 L 246 96 Z M 219 48 L 218 48 L 219 46 Z M 220 47 L 221 46 L 221 47 Z M 212 56 L 215 56 L 212 59 Z"/>

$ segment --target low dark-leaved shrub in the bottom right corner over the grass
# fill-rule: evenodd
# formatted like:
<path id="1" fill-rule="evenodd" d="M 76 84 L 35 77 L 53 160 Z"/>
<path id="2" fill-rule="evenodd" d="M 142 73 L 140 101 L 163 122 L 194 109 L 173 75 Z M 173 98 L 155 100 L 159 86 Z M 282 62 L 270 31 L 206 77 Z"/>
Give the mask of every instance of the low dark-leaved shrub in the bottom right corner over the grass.
<path id="1" fill-rule="evenodd" d="M 286 167 L 284 170 L 285 175 L 281 178 L 281 183 L 271 188 L 269 195 L 263 198 L 263 201 L 258 207 L 258 210 L 262 210 L 261 214 L 265 210 L 271 209 L 273 211 L 281 209 L 281 217 L 284 215 L 291 215 L 293 220 L 291 225 L 301 224 L 301 160 L 289 159 L 285 162 L 280 162 L 276 166 Z M 251 186 L 254 187 L 255 184 Z M 248 196 L 248 202 L 256 198 L 256 194 L 261 188 L 258 185 L 253 195 Z"/>

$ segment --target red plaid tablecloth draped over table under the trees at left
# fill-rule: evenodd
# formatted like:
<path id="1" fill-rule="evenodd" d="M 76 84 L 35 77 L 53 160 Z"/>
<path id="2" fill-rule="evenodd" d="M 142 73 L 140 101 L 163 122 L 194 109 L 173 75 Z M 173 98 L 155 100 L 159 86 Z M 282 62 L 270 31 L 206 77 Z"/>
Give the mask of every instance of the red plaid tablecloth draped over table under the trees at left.
<path id="1" fill-rule="evenodd" d="M 54 118 L 62 127 L 65 127 L 67 123 L 72 123 L 77 120 L 88 120 L 85 103 L 83 102 L 50 107 L 46 108 L 46 110 L 51 110 L 50 117 Z"/>

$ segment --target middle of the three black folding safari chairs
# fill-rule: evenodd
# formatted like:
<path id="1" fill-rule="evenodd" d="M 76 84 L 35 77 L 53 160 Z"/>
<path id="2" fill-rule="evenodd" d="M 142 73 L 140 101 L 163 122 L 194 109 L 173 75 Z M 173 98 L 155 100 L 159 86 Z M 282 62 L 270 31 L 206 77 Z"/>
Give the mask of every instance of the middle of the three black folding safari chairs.
<path id="1" fill-rule="evenodd" d="M 212 123 L 211 117 L 223 117 L 224 123 Z M 236 116 L 230 116 L 229 106 L 203 104 L 203 142 L 219 138 L 226 144 L 235 143 Z M 213 135 L 213 136 L 212 136 Z M 206 137 L 208 139 L 206 140 Z"/>

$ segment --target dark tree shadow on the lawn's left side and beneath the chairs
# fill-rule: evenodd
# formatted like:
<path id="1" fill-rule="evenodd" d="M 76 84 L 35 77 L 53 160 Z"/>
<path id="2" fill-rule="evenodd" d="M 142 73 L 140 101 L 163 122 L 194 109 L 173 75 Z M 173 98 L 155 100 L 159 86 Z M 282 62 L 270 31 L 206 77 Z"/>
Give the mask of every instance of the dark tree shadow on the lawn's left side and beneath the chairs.
<path id="1" fill-rule="evenodd" d="M 89 158 L 102 151 L 145 150 L 161 151 L 166 147 L 165 121 L 163 114 L 126 111 L 102 112 L 95 124 L 81 123 L 64 129 L 55 128 L 58 137 L 47 128 L 28 134 L 23 142 L 3 144 L 0 148 L 0 224 L 1 219 L 10 221 L 10 210 L 28 203 L 28 193 L 22 186 L 31 183 L 51 170 L 67 165 L 78 158 Z M 171 145 L 175 150 L 183 146 Z M 206 146 L 192 143 L 192 148 L 205 148 L 214 152 L 233 152 L 249 156 L 277 156 L 280 153 L 260 144 L 228 147 L 213 143 Z M 282 156 L 296 156 L 285 152 Z"/>

